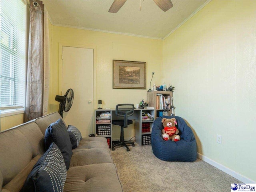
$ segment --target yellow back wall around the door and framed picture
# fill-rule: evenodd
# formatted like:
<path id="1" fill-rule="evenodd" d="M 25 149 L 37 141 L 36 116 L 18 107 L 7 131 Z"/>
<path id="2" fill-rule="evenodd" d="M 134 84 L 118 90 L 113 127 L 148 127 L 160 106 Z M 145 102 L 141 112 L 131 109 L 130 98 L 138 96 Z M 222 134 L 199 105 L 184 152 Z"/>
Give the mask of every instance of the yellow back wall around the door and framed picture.
<path id="1" fill-rule="evenodd" d="M 155 74 L 152 83 L 162 83 L 162 40 L 52 26 L 50 112 L 58 110 L 55 96 L 59 93 L 59 43 L 96 46 L 96 101 L 94 102 L 101 99 L 103 108 L 115 108 L 116 104 L 120 103 L 138 104 L 142 98 L 146 100 L 147 90 L 112 88 L 113 59 L 146 62 L 147 89 L 153 71 Z M 134 136 L 133 126 L 125 130 L 125 138 Z M 120 128 L 114 128 L 114 138 L 120 137 L 119 131 Z"/>

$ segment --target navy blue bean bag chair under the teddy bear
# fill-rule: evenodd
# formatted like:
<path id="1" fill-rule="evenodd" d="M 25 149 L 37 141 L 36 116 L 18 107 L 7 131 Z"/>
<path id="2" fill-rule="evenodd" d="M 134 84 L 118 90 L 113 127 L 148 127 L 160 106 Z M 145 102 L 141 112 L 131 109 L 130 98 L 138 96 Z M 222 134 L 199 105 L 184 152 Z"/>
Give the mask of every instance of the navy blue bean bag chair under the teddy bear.
<path id="1" fill-rule="evenodd" d="M 162 138 L 162 117 L 154 121 L 151 133 L 151 146 L 154 155 L 164 161 L 185 161 L 193 162 L 196 160 L 196 139 L 191 128 L 178 116 L 164 116 L 165 118 L 176 118 L 179 130 L 180 141 L 165 141 Z M 163 118 L 164 118 L 163 117 Z"/>

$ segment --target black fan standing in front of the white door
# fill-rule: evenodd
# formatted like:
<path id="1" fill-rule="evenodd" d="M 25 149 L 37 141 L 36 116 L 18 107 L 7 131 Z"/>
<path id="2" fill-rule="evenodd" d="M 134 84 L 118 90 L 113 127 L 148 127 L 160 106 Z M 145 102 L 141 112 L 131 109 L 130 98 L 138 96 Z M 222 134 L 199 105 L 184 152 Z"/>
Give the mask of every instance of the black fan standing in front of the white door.
<path id="1" fill-rule="evenodd" d="M 68 112 L 73 104 L 74 91 L 72 89 L 68 89 L 64 96 L 56 95 L 55 100 L 60 102 L 58 112 L 63 118 L 63 111 Z"/>

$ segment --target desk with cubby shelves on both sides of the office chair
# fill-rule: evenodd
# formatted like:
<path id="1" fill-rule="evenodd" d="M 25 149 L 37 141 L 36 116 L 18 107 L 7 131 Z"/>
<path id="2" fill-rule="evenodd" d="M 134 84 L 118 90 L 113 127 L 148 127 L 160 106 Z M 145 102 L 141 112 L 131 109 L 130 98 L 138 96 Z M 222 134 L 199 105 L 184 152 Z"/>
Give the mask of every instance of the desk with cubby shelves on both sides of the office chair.
<path id="1" fill-rule="evenodd" d="M 94 110 L 94 115 L 95 117 L 100 114 L 100 112 L 109 112 L 111 114 L 110 116 L 110 122 L 112 122 L 112 120 L 120 120 L 123 119 L 122 117 L 116 116 L 116 109 L 95 109 Z M 142 146 L 142 135 L 150 135 L 151 134 L 151 130 L 153 127 L 153 121 L 142 121 L 142 111 L 148 112 L 150 113 L 153 117 L 155 116 L 155 110 L 154 108 L 150 108 L 150 109 L 134 109 L 134 114 L 132 116 L 129 116 L 128 119 L 130 120 L 134 120 L 134 128 L 135 128 L 135 140 L 136 143 L 138 143 L 140 146 Z M 143 123 L 150 123 L 150 132 L 143 132 L 142 133 L 142 124 Z M 94 121 L 94 132 L 95 135 L 98 137 L 106 137 L 106 138 L 110 138 L 110 144 L 111 144 L 111 148 L 112 148 L 112 124 L 111 123 L 107 123 L 107 124 L 97 124 L 96 123 L 96 118 Z M 110 135 L 97 135 L 97 127 L 99 125 L 110 125 Z"/>

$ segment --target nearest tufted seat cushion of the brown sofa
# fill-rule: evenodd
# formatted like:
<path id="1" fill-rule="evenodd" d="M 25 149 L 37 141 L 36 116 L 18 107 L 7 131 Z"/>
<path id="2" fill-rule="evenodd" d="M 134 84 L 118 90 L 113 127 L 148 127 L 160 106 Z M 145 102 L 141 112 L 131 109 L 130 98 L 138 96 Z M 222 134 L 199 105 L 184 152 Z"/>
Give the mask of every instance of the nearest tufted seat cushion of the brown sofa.
<path id="1" fill-rule="evenodd" d="M 70 167 L 64 192 L 122 192 L 113 163 Z"/>

